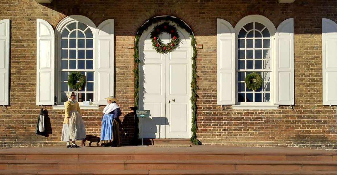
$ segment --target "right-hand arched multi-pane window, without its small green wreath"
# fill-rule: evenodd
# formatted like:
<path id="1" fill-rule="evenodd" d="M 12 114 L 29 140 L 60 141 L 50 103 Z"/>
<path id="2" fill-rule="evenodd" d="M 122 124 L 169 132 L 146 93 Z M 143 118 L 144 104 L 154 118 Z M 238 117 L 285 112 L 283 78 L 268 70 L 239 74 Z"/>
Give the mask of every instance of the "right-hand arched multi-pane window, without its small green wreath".
<path id="1" fill-rule="evenodd" d="M 263 16 L 243 18 L 235 27 L 237 36 L 237 103 L 272 102 L 272 38 L 275 27 Z M 262 76 L 261 88 L 256 91 L 246 87 L 245 77 L 256 72 Z"/>

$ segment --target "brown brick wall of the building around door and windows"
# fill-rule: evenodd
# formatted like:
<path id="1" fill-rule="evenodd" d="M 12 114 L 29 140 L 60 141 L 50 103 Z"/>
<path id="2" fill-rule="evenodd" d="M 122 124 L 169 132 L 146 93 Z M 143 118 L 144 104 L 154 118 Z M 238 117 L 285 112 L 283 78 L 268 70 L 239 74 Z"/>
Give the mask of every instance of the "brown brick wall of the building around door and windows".
<path id="1" fill-rule="evenodd" d="M 324 2 L 323 2 L 324 1 Z M 334 0 L 54 0 L 41 5 L 33 0 L 1 0 L 0 19 L 11 20 L 10 106 L 0 108 L 0 148 L 49 146 L 60 142 L 63 111 L 48 106 L 53 134 L 35 135 L 40 107 L 36 94 L 36 18 L 56 27 L 67 15 L 89 17 L 96 26 L 115 19 L 116 98 L 122 110 L 123 141 L 133 136 L 133 49 L 137 28 L 150 17 L 172 15 L 193 30 L 198 44 L 198 132 L 203 144 L 233 146 L 300 146 L 335 149 L 336 107 L 322 104 L 321 19 L 336 20 Z M 250 14 L 268 17 L 277 27 L 283 20 L 295 23 L 295 107 L 277 110 L 233 110 L 216 105 L 216 19 L 233 26 Z M 98 110 L 82 110 L 87 134 L 99 135 Z"/>

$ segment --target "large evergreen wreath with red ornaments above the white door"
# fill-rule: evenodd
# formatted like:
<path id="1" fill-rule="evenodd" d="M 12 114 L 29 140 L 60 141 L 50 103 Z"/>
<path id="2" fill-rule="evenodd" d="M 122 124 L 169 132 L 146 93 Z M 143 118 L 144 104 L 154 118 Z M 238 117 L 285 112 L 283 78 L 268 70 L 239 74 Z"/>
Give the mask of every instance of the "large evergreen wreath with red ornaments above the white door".
<path id="1" fill-rule="evenodd" d="M 163 32 L 171 34 L 171 41 L 167 44 L 162 43 L 161 39 L 158 37 Z M 160 54 L 167 54 L 168 52 L 175 50 L 180 43 L 176 27 L 167 22 L 154 27 L 151 32 L 151 41 L 152 47 Z"/>

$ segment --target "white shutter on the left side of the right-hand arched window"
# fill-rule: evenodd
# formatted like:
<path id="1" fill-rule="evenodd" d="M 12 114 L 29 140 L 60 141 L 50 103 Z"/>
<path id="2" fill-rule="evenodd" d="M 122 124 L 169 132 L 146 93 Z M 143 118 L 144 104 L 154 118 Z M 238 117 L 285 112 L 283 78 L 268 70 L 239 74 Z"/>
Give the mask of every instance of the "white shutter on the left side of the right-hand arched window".
<path id="1" fill-rule="evenodd" d="M 235 31 L 225 20 L 217 19 L 217 104 L 235 105 Z"/>

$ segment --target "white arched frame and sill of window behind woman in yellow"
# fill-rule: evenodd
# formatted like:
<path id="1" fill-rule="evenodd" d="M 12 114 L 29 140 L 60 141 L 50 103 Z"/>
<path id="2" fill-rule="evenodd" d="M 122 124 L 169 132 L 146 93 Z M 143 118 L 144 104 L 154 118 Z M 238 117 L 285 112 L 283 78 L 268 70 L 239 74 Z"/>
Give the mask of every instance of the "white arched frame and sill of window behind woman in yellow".
<path id="1" fill-rule="evenodd" d="M 86 24 L 92 34 L 93 34 L 93 71 L 94 72 L 94 81 L 95 82 L 95 73 L 96 73 L 96 69 L 95 69 L 95 33 L 96 33 L 96 25 L 86 16 L 82 16 L 82 15 L 70 15 L 65 17 L 63 20 L 60 21 L 60 23 L 56 26 L 55 28 L 55 39 L 56 39 L 56 51 L 55 51 L 55 55 L 56 55 L 56 74 L 55 74 L 55 80 L 57 82 L 57 86 L 55 88 L 55 94 L 57 97 L 57 106 L 53 106 L 54 109 L 64 109 L 64 104 L 62 104 L 61 102 L 61 31 L 62 29 L 67 26 L 68 24 L 77 21 L 83 24 Z M 95 85 L 94 85 L 94 98 L 95 98 L 95 94 L 97 93 L 95 90 Z M 92 99 L 92 101 L 94 101 L 94 99 Z M 82 109 L 97 109 L 98 105 L 83 105 L 83 102 L 79 102 L 80 106 Z"/>

